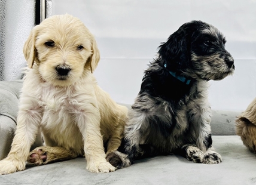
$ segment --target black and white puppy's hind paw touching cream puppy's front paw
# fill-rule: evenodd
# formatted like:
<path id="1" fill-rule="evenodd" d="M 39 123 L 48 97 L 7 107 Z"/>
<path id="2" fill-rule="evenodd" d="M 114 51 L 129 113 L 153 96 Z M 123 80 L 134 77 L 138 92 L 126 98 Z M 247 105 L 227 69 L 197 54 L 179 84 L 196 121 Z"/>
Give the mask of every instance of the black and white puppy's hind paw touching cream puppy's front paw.
<path id="1" fill-rule="evenodd" d="M 115 166 L 117 169 L 131 165 L 127 155 L 118 151 L 108 153 L 108 155 L 106 155 L 106 161 Z"/>

